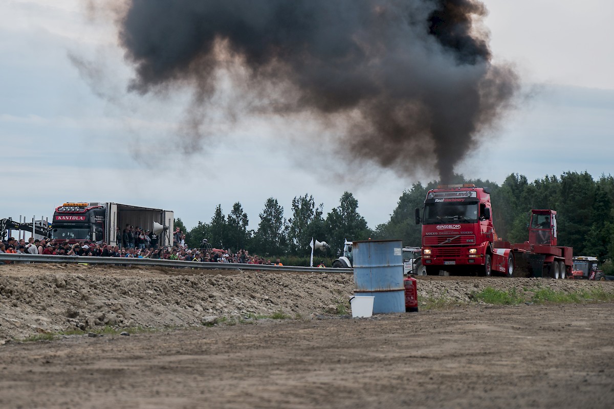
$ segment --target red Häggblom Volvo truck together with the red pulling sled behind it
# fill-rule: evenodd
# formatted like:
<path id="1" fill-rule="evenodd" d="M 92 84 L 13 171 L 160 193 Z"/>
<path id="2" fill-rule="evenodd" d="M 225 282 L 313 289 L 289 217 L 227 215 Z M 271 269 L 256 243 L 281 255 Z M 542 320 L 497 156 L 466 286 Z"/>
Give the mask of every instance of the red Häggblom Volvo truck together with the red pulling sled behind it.
<path id="1" fill-rule="evenodd" d="M 443 270 L 512 277 L 516 266 L 533 277 L 564 278 L 571 272 L 572 249 L 557 246 L 553 210 L 533 210 L 529 241 L 518 244 L 497 239 L 488 188 L 473 184 L 429 190 L 415 218 L 422 223 L 422 264 L 429 275 Z"/>

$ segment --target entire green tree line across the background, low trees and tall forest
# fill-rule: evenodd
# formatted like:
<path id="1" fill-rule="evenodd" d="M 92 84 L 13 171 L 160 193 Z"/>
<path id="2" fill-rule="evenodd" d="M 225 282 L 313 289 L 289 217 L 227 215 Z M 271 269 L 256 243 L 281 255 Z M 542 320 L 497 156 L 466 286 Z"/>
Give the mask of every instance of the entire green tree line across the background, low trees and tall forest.
<path id="1" fill-rule="evenodd" d="M 491 191 L 492 216 L 500 239 L 509 242 L 528 240 L 527 225 L 532 208 L 553 209 L 558 213 L 558 243 L 573 247 L 575 255 L 596 256 L 602 262 L 614 255 L 614 178 L 601 175 L 594 180 L 588 172 L 565 172 L 560 177 L 546 175 L 529 182 L 524 175 L 511 174 L 502 185 L 489 180 L 465 179 L 454 175 L 451 183 L 473 183 Z M 331 256 L 340 254 L 344 239 L 400 239 L 403 245 L 421 245 L 421 227 L 414 222 L 414 208 L 421 208 L 427 191 L 437 181 L 422 186 L 414 183 L 403 191 L 387 223 L 375 229 L 358 212 L 358 201 L 344 192 L 339 205 L 324 214 L 323 205 L 316 205 L 311 194 L 294 197 L 290 217 L 277 199 L 266 200 L 255 230 L 247 229 L 249 218 L 239 202 L 224 215 L 216 207 L 209 223 L 198 222 L 186 234 L 190 247 L 199 247 L 208 239 L 214 247 L 244 248 L 263 256 L 296 255 L 309 252 L 315 237 L 331 246 Z M 185 230 L 181 219 L 176 226 Z"/>

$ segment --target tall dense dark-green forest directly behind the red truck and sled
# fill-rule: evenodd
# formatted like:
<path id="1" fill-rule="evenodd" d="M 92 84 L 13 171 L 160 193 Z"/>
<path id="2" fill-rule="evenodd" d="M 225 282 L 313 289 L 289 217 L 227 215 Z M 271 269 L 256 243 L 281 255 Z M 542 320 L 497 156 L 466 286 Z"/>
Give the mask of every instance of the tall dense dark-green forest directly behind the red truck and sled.
<path id="1" fill-rule="evenodd" d="M 511 243 L 529 240 L 531 209 L 557 212 L 558 244 L 573 247 L 577 256 L 594 256 L 604 262 L 614 256 L 614 178 L 601 175 L 597 180 L 588 172 L 565 172 L 529 182 L 524 175 L 511 174 L 502 185 L 489 180 L 465 179 L 455 175 L 452 183 L 473 183 L 491 192 L 492 221 L 497 235 Z M 398 200 L 391 219 L 376 227 L 374 237 L 403 240 L 405 245 L 420 245 L 421 227 L 414 222 L 414 208 L 422 207 L 429 189 L 414 183 Z"/>

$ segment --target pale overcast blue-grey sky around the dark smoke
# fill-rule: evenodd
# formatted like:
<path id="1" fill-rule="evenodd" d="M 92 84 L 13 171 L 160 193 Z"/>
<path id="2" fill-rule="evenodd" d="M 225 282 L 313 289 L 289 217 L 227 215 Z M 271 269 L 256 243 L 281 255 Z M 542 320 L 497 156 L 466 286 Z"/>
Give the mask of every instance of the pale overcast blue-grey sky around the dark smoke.
<path id="1" fill-rule="evenodd" d="M 456 171 L 497 183 L 511 173 L 612 174 L 614 2 L 484 3 L 495 59 L 516 64 L 530 96 Z M 0 0 L 0 218 L 51 218 L 66 201 L 111 201 L 174 210 L 189 229 L 210 221 L 217 204 L 228 214 L 240 202 L 255 229 L 268 197 L 289 217 L 295 196 L 313 194 L 327 213 L 351 191 L 375 227 L 417 182 L 366 164 L 344 175 L 327 147 L 300 138 L 309 124 L 288 129 L 276 118 L 230 131 L 220 124 L 205 147 L 179 145 L 172 135 L 187 96 L 126 92 L 134 74 L 115 27 L 88 20 L 83 4 Z M 282 143 L 280 132 L 298 139 Z"/>

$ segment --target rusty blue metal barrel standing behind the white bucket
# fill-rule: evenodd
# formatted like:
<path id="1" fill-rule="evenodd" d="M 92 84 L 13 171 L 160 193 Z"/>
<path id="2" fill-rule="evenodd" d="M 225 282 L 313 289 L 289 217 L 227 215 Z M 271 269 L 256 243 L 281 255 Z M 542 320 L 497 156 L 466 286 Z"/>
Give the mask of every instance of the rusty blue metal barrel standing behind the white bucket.
<path id="1" fill-rule="evenodd" d="M 401 240 L 352 243 L 354 294 L 374 296 L 373 313 L 405 312 Z"/>

